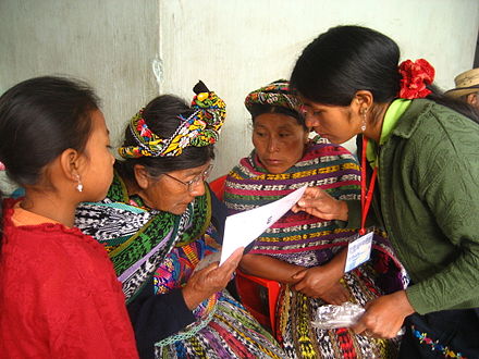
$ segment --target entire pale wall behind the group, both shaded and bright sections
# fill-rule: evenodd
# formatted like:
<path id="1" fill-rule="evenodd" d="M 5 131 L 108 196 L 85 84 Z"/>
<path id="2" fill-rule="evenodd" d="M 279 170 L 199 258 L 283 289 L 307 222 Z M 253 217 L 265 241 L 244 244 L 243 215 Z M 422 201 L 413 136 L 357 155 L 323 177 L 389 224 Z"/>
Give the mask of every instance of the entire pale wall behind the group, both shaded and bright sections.
<path id="1" fill-rule="evenodd" d="M 214 177 L 251 149 L 246 94 L 288 77 L 302 49 L 340 24 L 391 36 L 404 59 L 428 59 L 449 89 L 472 64 L 479 1 L 0 0 L 0 91 L 42 74 L 82 77 L 118 139 L 159 90 L 191 99 L 201 78 L 229 112 Z"/>

